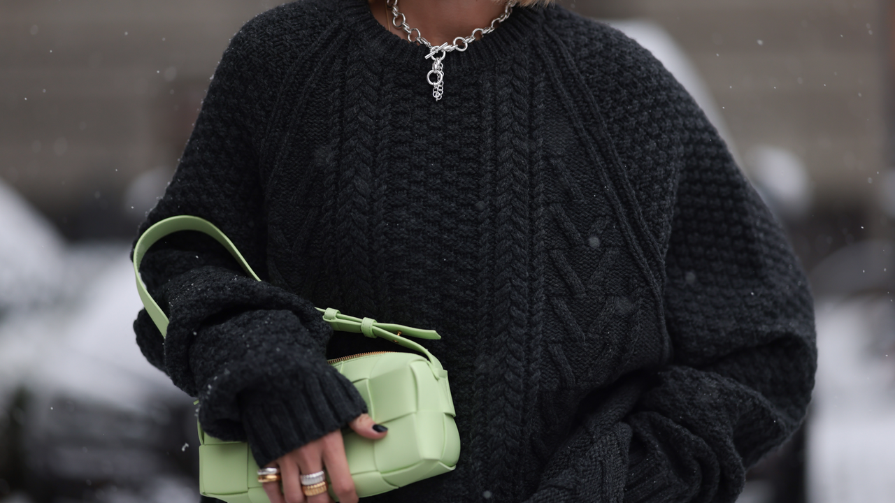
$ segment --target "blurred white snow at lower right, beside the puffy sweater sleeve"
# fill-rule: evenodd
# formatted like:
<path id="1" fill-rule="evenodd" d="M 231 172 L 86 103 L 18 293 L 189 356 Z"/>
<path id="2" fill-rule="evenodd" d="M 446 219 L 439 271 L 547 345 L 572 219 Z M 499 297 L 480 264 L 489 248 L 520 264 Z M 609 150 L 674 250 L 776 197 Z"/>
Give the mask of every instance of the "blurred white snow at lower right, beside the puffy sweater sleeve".
<path id="1" fill-rule="evenodd" d="M 895 501 L 893 313 L 889 298 L 818 303 L 807 445 L 812 503 Z"/>

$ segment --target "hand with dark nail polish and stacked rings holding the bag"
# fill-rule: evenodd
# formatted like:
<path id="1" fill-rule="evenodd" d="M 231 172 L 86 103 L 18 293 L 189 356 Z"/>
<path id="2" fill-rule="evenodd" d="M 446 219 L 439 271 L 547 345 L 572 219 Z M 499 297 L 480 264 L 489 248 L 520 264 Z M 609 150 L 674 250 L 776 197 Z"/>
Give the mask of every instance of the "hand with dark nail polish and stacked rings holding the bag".
<path id="1" fill-rule="evenodd" d="M 376 422 L 365 413 L 348 423 L 352 430 L 367 439 L 376 440 L 385 437 L 386 431 L 373 430 L 375 425 Z M 317 496 L 305 496 L 302 482 L 298 478 L 299 475 L 320 472 L 324 467 L 329 474 L 329 485 L 338 496 L 339 503 L 357 503 L 354 481 L 351 479 L 348 460 L 345 458 L 342 431 L 328 433 L 280 457 L 268 466 L 277 466 L 283 477 L 283 492 L 280 492 L 279 482 L 263 484 L 270 503 L 333 503 L 326 492 Z"/>

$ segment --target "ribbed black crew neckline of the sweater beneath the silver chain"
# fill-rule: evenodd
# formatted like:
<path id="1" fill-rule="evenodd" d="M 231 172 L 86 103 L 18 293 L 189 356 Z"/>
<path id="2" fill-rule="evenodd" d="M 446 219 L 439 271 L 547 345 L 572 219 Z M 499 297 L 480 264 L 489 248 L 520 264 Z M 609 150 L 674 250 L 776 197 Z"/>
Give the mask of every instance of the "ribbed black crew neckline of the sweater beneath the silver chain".
<path id="1" fill-rule="evenodd" d="M 405 38 L 386 30 L 376 21 L 367 0 L 341 0 L 341 15 L 349 30 L 354 31 L 362 47 L 371 56 L 384 58 L 396 64 L 430 67 L 425 59 L 429 48 L 411 44 Z M 464 52 L 454 51 L 445 58 L 445 64 L 458 71 L 473 69 L 482 64 L 494 64 L 524 48 L 531 40 L 532 29 L 539 23 L 540 9 L 516 6 L 507 21 L 497 30 L 476 40 Z"/>

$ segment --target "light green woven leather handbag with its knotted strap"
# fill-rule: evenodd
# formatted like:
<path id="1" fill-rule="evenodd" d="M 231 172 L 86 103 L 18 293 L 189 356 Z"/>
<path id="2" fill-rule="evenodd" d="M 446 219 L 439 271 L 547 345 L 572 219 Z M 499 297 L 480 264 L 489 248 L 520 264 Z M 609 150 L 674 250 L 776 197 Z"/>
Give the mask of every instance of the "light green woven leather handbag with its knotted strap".
<path id="1" fill-rule="evenodd" d="M 168 320 L 143 285 L 140 264 L 153 243 L 167 234 L 187 230 L 213 237 L 248 275 L 260 281 L 234 243 L 209 221 L 182 215 L 150 226 L 134 247 L 133 271 L 143 305 L 163 337 Z M 335 330 L 381 337 L 420 353 L 376 352 L 329 361 L 354 383 L 373 420 L 388 427 L 388 435 L 379 440 L 343 431 L 345 455 L 358 496 L 380 494 L 454 470 L 460 456 L 460 435 L 454 422 L 456 413 L 447 371 L 422 345 L 401 337 L 439 339 L 438 333 L 353 318 L 334 309 L 318 311 Z M 269 503 L 258 482 L 258 465 L 248 444 L 215 439 L 202 431 L 201 425 L 199 441 L 199 484 L 203 495 L 228 503 Z"/>

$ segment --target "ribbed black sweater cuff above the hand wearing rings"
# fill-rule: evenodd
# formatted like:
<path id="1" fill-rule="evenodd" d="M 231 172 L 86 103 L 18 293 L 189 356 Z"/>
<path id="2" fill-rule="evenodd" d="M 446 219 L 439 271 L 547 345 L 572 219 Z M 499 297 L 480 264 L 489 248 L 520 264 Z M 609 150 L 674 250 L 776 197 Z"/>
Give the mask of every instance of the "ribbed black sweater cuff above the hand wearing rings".
<path id="1" fill-rule="evenodd" d="M 243 428 L 259 466 L 337 431 L 367 412 L 354 385 L 328 366 L 302 376 L 291 386 L 277 388 L 295 391 L 283 394 L 249 388 L 240 393 Z"/>

